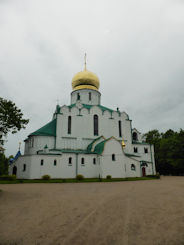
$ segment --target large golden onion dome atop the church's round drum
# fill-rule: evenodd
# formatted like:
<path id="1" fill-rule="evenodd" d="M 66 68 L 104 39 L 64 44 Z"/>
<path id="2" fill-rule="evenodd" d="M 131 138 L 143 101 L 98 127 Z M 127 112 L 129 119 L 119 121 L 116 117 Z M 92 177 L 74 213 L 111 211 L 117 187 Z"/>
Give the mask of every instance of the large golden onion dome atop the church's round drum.
<path id="1" fill-rule="evenodd" d="M 72 79 L 72 89 L 99 89 L 99 79 L 97 75 L 88 70 L 78 72 Z"/>

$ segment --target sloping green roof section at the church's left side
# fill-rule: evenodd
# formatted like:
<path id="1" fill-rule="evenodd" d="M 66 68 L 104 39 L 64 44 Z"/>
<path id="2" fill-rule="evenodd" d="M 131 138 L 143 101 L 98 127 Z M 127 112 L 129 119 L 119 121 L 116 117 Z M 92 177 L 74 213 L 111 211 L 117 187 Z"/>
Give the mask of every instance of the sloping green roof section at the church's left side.
<path id="1" fill-rule="evenodd" d="M 29 136 L 40 135 L 40 136 L 56 136 L 56 119 L 47 123 L 42 128 L 31 133 Z"/>

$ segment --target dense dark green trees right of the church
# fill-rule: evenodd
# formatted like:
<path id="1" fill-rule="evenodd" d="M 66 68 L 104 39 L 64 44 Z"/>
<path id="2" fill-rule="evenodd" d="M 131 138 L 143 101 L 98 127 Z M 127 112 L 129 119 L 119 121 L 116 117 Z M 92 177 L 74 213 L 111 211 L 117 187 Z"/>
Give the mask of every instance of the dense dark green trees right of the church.
<path id="1" fill-rule="evenodd" d="M 145 134 L 146 142 L 154 144 L 156 170 L 163 175 L 184 175 L 184 130 L 165 133 L 152 130 Z"/>

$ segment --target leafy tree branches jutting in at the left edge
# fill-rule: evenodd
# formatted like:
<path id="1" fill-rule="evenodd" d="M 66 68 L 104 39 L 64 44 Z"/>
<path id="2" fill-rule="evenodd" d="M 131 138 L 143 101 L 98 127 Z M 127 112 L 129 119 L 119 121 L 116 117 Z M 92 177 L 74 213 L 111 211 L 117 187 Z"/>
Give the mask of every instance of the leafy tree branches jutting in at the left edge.
<path id="1" fill-rule="evenodd" d="M 8 132 L 16 133 L 25 128 L 29 120 L 23 118 L 20 109 L 11 100 L 6 100 L 0 97 L 0 139 Z"/>

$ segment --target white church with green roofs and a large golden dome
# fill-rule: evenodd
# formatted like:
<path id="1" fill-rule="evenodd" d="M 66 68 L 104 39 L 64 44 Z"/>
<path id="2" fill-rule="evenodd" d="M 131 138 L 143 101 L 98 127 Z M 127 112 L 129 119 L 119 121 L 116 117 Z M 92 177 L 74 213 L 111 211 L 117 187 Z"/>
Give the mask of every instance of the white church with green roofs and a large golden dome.
<path id="1" fill-rule="evenodd" d="M 154 148 L 125 112 L 101 105 L 98 77 L 85 69 L 72 79 L 70 105 L 28 135 L 24 155 L 9 167 L 20 179 L 141 177 L 156 174 Z"/>

